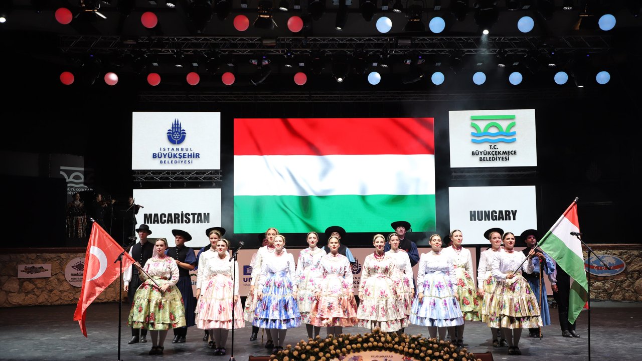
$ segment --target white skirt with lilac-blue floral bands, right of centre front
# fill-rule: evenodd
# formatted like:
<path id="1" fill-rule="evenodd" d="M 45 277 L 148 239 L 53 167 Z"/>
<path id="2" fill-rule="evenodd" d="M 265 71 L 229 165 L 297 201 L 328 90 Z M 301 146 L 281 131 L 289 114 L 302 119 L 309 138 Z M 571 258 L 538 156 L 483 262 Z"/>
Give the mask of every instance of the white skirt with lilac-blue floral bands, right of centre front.
<path id="1" fill-rule="evenodd" d="M 410 322 L 419 326 L 449 327 L 464 324 L 464 315 L 445 274 L 433 273 L 424 278 L 423 298 L 415 295 Z"/>

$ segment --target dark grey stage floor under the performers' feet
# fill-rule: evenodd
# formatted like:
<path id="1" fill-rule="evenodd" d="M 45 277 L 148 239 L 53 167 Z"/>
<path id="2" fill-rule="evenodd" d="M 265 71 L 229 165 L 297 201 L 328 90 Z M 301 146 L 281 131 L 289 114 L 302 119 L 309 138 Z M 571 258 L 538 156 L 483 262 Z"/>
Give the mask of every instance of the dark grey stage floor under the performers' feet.
<path id="1" fill-rule="evenodd" d="M 641 360 L 642 358 L 642 303 L 591 303 L 591 360 Z M 36 306 L 0 309 L 0 360 L 117 360 L 118 359 L 118 304 L 92 304 L 87 314 L 88 339 L 83 337 L 78 322 L 72 321 L 75 306 Z M 182 359 L 189 361 L 229 360 L 227 355 L 214 356 L 202 341 L 204 332 L 189 328 L 187 342 L 171 343 L 171 331 L 162 356 L 149 356 L 151 342 L 127 344 L 130 330 L 126 328 L 129 308 L 123 305 L 121 360 Z M 577 322 L 580 339 L 562 337 L 557 324 L 557 310 L 551 308 L 555 322 L 543 329 L 544 337 L 531 339 L 523 333 L 519 346 L 523 355 L 510 356 L 507 349 L 494 349 L 490 345 L 489 328 L 481 322 L 467 322 L 464 342 L 472 352 L 491 351 L 494 360 L 589 360 L 587 338 L 587 312 L 582 312 Z M 250 327 L 234 332 L 234 357 L 245 361 L 248 356 L 268 355 L 261 336 L 249 341 Z M 361 328 L 346 328 L 346 332 L 365 333 Z M 428 334 L 426 328 L 411 326 L 406 333 Z M 306 335 L 304 327 L 288 331 L 287 343 L 293 344 Z M 322 330 L 321 335 L 325 335 Z"/>

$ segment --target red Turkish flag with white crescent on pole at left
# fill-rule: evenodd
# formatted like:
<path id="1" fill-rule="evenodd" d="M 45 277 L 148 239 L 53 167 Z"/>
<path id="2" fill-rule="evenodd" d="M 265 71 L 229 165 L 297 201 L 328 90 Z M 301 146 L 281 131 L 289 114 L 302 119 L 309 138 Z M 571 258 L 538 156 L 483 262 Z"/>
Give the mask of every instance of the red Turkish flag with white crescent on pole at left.
<path id="1" fill-rule="evenodd" d="M 80 298 L 74 312 L 74 321 L 80 324 L 82 334 L 87 337 L 87 328 L 85 328 L 85 316 L 87 307 L 98 295 L 100 295 L 107 286 L 120 276 L 120 263 L 114 261 L 119 254 L 123 252 L 121 247 L 114 238 L 94 222 L 87 244 L 87 253 L 85 253 L 85 270 L 82 276 L 82 289 Z M 123 270 L 131 267 L 134 258 L 129 254 L 123 254 Z"/>

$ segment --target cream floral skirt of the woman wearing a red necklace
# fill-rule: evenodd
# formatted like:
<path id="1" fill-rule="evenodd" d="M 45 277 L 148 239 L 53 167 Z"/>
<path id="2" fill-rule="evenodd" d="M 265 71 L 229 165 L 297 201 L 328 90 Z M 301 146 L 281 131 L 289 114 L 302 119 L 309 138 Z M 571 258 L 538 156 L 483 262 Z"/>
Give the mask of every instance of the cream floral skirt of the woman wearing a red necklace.
<path id="1" fill-rule="evenodd" d="M 364 297 L 357 310 L 357 326 L 392 332 L 403 327 L 406 315 L 399 306 L 399 295 L 390 277 L 371 277 L 364 286 Z"/>

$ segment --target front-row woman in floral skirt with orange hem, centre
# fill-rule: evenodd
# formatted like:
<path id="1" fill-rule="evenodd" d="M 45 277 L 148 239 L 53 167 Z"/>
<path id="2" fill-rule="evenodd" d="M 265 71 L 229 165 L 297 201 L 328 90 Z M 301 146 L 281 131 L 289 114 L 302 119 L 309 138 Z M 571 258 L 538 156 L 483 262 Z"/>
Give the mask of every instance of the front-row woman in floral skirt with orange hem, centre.
<path id="1" fill-rule="evenodd" d="M 352 269 L 346 256 L 339 253 L 339 238 L 327 240 L 330 249 L 319 262 L 323 279 L 316 283 L 315 301 L 310 312 L 310 323 L 325 326 L 327 335 L 340 335 L 344 327 L 357 322 L 357 304 L 352 290 Z"/>

